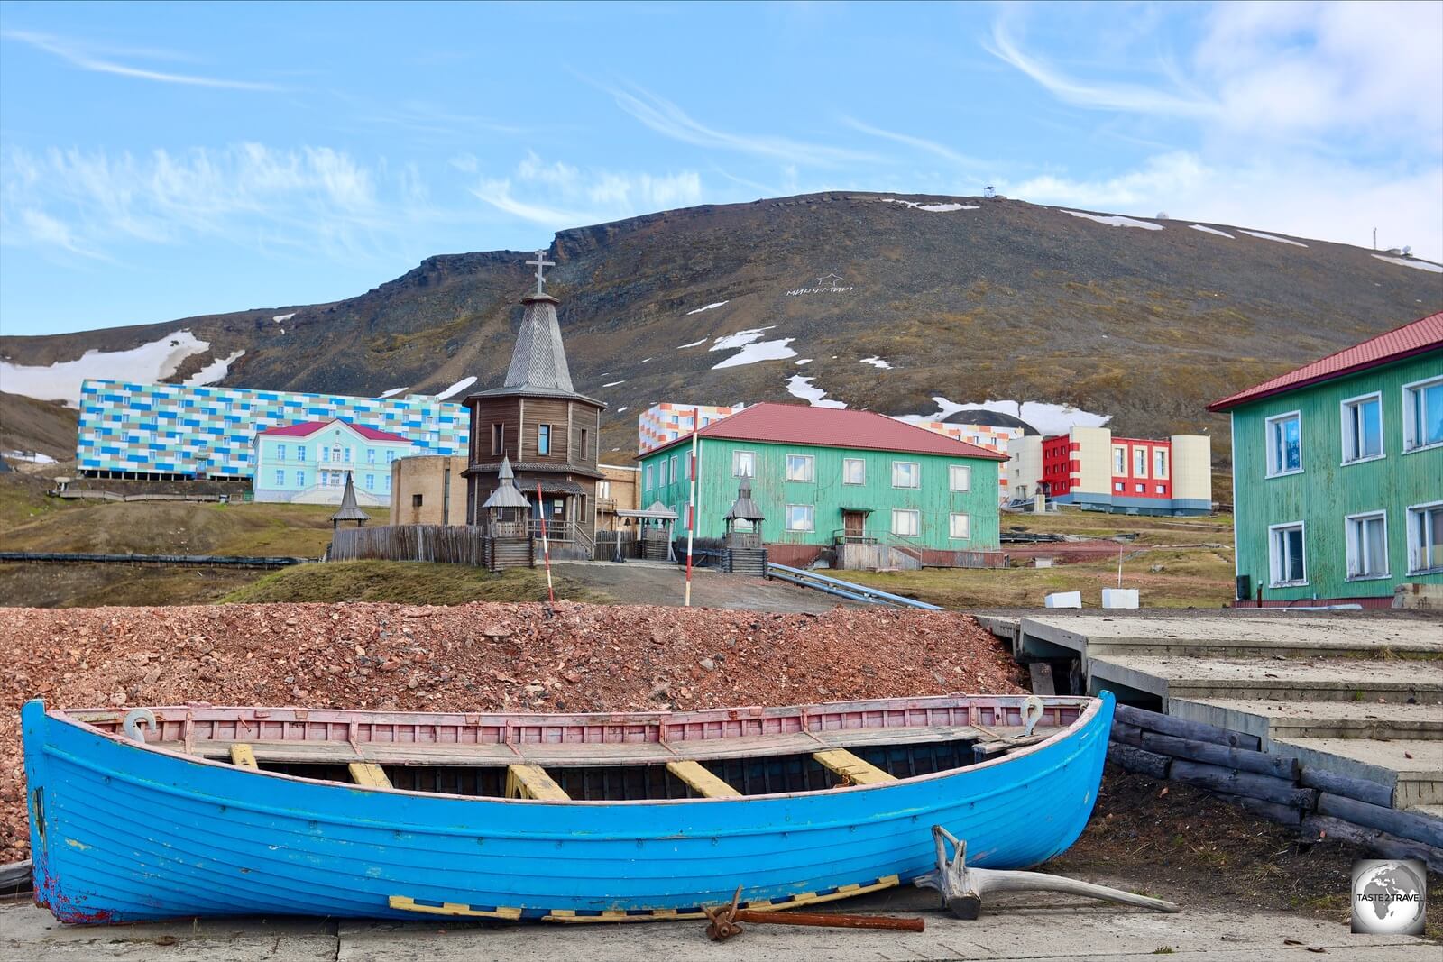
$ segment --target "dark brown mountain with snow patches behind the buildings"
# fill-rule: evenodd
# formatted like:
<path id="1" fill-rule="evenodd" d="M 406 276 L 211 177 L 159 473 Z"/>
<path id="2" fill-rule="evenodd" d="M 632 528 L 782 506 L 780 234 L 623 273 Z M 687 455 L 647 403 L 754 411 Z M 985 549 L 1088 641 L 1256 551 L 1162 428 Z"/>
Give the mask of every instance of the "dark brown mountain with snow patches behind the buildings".
<path id="1" fill-rule="evenodd" d="M 362 395 L 488 385 L 534 288 L 527 257 L 431 257 L 330 304 L 0 337 L 0 374 L 22 385 L 0 387 L 65 397 L 48 378 L 107 368 Z M 610 404 L 615 457 L 657 401 L 823 394 L 934 417 L 1045 402 L 988 405 L 1043 431 L 1075 405 L 1128 436 L 1209 430 L 1225 457 L 1227 421 L 1205 402 L 1443 306 L 1443 273 L 1423 261 L 1003 198 L 688 208 L 564 231 L 550 258 L 571 374 Z"/>

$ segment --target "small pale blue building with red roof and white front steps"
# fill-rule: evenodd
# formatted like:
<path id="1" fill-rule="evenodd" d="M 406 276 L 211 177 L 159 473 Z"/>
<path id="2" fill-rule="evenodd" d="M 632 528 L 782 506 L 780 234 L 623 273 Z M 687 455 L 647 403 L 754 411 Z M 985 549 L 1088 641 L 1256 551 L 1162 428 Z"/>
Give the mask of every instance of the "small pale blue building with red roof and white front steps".
<path id="1" fill-rule="evenodd" d="M 273 427 L 255 434 L 255 500 L 339 505 L 346 472 L 356 502 L 388 505 L 391 463 L 414 453 L 410 438 L 341 418 Z"/>

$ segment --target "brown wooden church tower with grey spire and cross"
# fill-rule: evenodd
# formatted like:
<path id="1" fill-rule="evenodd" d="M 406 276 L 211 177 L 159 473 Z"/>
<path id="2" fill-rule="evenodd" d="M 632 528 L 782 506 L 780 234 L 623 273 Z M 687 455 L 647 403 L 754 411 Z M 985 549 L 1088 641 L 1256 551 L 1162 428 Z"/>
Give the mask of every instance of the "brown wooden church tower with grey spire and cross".
<path id="1" fill-rule="evenodd" d="M 470 411 L 466 521 L 486 524 L 486 500 L 502 485 L 502 462 L 509 462 L 515 486 L 530 502 L 530 534 L 541 537 L 544 518 L 554 557 L 592 558 L 596 482 L 603 477 L 596 460 L 606 404 L 571 385 L 556 316 L 561 301 L 543 290 L 544 270 L 554 264 L 545 260 L 545 251 L 537 251 L 537 260 L 527 264 L 537 268 L 537 290 L 521 301 L 521 330 L 506 379 L 465 401 Z"/>

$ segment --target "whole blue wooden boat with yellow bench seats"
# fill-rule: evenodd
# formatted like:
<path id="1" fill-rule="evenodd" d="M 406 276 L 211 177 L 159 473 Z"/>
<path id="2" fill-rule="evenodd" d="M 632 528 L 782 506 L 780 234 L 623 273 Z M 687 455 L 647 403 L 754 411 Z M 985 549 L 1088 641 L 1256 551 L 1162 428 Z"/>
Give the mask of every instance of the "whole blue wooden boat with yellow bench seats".
<path id="1" fill-rule="evenodd" d="M 62 922 L 700 917 L 906 884 L 931 829 L 1025 868 L 1082 832 L 1113 700 L 636 714 L 25 705 L 36 901 Z"/>

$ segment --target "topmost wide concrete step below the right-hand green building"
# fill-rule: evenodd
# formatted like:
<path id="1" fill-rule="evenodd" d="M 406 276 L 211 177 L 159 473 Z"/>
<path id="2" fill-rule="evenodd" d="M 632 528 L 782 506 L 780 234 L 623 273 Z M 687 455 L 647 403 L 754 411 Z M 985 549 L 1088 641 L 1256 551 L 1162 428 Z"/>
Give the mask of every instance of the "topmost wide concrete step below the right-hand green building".
<path id="1" fill-rule="evenodd" d="M 1443 659 L 1443 625 L 1323 617 L 1153 617 L 1055 614 L 1023 617 L 1014 649 L 1029 658 L 1108 655 L 1319 656 Z"/>

